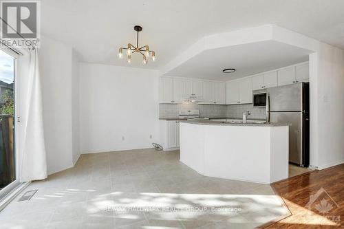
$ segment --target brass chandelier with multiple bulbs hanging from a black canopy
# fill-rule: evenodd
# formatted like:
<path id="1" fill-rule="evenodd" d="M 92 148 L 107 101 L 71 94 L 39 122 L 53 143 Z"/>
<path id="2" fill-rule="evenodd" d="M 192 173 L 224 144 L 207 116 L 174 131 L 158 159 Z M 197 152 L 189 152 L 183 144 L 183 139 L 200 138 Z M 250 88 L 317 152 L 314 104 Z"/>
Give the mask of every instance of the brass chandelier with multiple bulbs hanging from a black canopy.
<path id="1" fill-rule="evenodd" d="M 142 31 L 142 27 L 140 25 L 135 25 L 133 28 L 136 32 L 140 32 Z M 147 65 L 147 58 L 149 56 L 151 56 L 151 60 L 155 61 L 155 52 L 149 50 L 149 46 L 148 45 L 144 45 L 142 47 L 138 46 L 138 36 L 136 38 L 136 47 L 134 45 L 131 45 L 131 43 L 128 43 L 127 47 L 120 47 L 120 50 L 118 52 L 118 57 L 122 58 L 123 57 L 123 50 L 126 50 L 127 52 L 127 62 L 130 63 L 131 62 L 131 54 L 137 52 L 142 54 L 143 56 L 143 61 L 142 63 L 144 65 Z"/>

